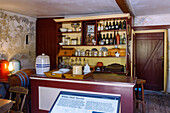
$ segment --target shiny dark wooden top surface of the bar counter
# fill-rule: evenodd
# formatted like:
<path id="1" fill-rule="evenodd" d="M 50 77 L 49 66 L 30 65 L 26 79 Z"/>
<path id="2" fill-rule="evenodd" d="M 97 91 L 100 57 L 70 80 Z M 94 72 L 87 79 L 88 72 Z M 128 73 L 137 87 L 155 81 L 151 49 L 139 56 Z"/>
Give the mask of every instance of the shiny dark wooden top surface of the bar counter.
<path id="1" fill-rule="evenodd" d="M 98 82 L 98 83 L 111 83 L 111 84 L 121 84 L 121 85 L 132 85 L 136 84 L 136 77 L 130 76 L 118 76 L 110 74 L 99 74 L 94 73 L 88 78 L 85 79 L 67 79 L 67 78 L 57 78 L 57 77 L 46 77 L 46 75 L 31 75 L 30 79 L 38 80 L 51 80 L 51 81 L 82 81 L 82 82 Z"/>

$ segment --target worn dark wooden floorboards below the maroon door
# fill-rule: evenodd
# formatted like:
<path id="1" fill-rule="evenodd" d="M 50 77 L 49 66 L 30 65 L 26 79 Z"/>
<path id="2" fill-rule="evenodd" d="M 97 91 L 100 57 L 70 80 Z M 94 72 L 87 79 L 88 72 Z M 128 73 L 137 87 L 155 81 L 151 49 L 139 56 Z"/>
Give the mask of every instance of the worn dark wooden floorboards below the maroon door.
<path id="1" fill-rule="evenodd" d="M 157 91 L 145 91 L 146 113 L 170 113 L 170 94 Z M 136 113 L 142 113 L 142 105 Z"/>

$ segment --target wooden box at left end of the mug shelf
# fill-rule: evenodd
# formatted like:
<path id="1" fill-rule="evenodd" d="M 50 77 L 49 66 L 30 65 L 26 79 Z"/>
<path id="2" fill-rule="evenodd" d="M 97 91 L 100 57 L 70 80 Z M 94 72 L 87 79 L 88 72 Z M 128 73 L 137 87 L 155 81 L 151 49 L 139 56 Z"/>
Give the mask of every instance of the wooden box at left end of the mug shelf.
<path id="1" fill-rule="evenodd" d="M 75 48 L 62 48 L 60 49 L 58 56 L 74 56 Z"/>

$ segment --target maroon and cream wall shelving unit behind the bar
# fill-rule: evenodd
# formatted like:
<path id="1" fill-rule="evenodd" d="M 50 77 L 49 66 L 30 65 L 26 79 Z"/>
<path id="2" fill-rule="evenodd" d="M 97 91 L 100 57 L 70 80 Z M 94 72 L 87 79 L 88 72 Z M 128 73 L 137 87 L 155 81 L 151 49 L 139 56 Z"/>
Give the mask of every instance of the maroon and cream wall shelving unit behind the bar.
<path id="1" fill-rule="evenodd" d="M 129 14 L 120 14 L 120 15 L 105 15 L 105 16 L 94 16 L 94 17 L 80 17 L 80 18 L 66 18 L 66 19 L 55 19 L 57 25 L 60 25 L 61 28 L 64 28 L 65 31 L 61 31 L 60 28 L 57 29 L 58 44 L 60 48 L 75 48 L 76 50 L 92 50 L 97 49 L 98 51 L 101 48 L 106 47 L 107 49 L 119 48 L 125 50 L 124 56 L 107 55 L 100 56 L 98 55 L 75 55 L 69 56 L 69 59 L 77 59 L 77 57 L 83 59 L 88 59 L 90 65 L 96 65 L 97 62 L 103 62 L 104 66 L 109 64 L 118 63 L 126 67 L 123 73 L 127 74 L 129 72 L 129 49 L 128 41 L 130 39 L 130 15 Z M 106 28 L 115 24 L 117 22 L 122 23 L 121 27 L 118 28 Z M 125 28 L 123 28 L 123 22 L 126 22 Z M 119 26 L 120 24 L 118 24 Z M 100 26 L 100 28 L 99 28 Z M 103 26 L 103 28 L 101 27 Z M 102 40 L 105 37 L 112 34 L 113 40 L 116 34 L 120 35 L 119 42 L 112 43 L 109 45 L 101 45 L 101 38 L 99 35 L 102 35 Z M 100 36 L 101 36 L 100 35 Z M 126 43 L 122 43 L 123 37 L 125 37 Z M 62 57 L 62 58 L 61 58 Z M 67 55 L 58 56 L 58 59 L 66 59 Z M 57 65 L 59 63 L 57 62 Z"/>

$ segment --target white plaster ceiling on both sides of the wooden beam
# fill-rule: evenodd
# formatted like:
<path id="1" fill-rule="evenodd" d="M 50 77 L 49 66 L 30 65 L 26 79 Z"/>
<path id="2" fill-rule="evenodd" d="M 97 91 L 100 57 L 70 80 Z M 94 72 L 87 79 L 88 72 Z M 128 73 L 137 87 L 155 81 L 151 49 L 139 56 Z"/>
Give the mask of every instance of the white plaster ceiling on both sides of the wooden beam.
<path id="1" fill-rule="evenodd" d="M 170 13 L 170 0 L 127 0 L 135 16 Z M 122 13 L 115 0 L 0 0 L 0 9 L 33 17 Z"/>

